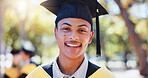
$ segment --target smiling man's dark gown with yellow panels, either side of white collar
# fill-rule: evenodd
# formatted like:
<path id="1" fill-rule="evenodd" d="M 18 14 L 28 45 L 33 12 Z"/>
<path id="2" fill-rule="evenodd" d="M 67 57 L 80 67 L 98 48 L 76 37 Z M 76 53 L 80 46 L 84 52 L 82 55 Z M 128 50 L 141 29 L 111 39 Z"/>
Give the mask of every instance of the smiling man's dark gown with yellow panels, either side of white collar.
<path id="1" fill-rule="evenodd" d="M 52 72 L 53 64 L 46 66 L 38 66 L 26 78 L 53 78 Z M 88 69 L 86 78 L 115 78 L 114 75 L 106 68 L 99 67 L 88 61 Z"/>

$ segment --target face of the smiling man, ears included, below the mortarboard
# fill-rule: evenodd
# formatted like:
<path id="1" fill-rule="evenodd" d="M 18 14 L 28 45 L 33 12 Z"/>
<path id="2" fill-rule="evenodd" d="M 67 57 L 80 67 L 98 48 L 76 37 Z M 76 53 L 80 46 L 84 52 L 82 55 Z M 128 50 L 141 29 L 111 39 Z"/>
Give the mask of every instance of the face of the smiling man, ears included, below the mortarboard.
<path id="1" fill-rule="evenodd" d="M 91 43 L 94 34 L 90 23 L 80 18 L 62 19 L 54 31 L 60 56 L 69 58 L 84 57 L 87 45 Z"/>

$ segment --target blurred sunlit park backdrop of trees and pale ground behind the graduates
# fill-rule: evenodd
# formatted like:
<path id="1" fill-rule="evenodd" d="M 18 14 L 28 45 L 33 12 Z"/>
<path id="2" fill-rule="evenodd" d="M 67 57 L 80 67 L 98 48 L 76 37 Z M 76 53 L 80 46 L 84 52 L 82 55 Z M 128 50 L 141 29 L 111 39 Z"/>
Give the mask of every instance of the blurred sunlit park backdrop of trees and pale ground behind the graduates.
<path id="1" fill-rule="evenodd" d="M 37 48 L 32 59 L 51 63 L 59 49 L 54 37 L 56 16 L 40 6 L 44 0 L 0 0 L 0 77 L 12 62 L 11 49 L 24 40 Z M 91 0 L 90 0 L 91 1 Z M 107 66 L 117 78 L 148 76 L 148 0 L 98 0 L 109 12 L 100 17 L 101 57 L 96 37 L 87 48 L 89 60 Z M 95 31 L 95 19 L 94 31 Z M 141 73 L 141 74 L 140 74 Z"/>

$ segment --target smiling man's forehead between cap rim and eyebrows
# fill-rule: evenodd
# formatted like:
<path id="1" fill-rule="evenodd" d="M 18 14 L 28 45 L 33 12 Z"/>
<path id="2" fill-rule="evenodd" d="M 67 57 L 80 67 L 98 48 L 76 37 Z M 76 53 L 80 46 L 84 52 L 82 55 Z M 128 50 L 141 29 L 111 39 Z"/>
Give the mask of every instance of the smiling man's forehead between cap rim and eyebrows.
<path id="1" fill-rule="evenodd" d="M 64 18 L 58 22 L 58 27 L 62 26 L 63 23 L 68 23 L 71 26 L 87 25 L 89 28 L 91 28 L 91 24 L 81 18 Z"/>

